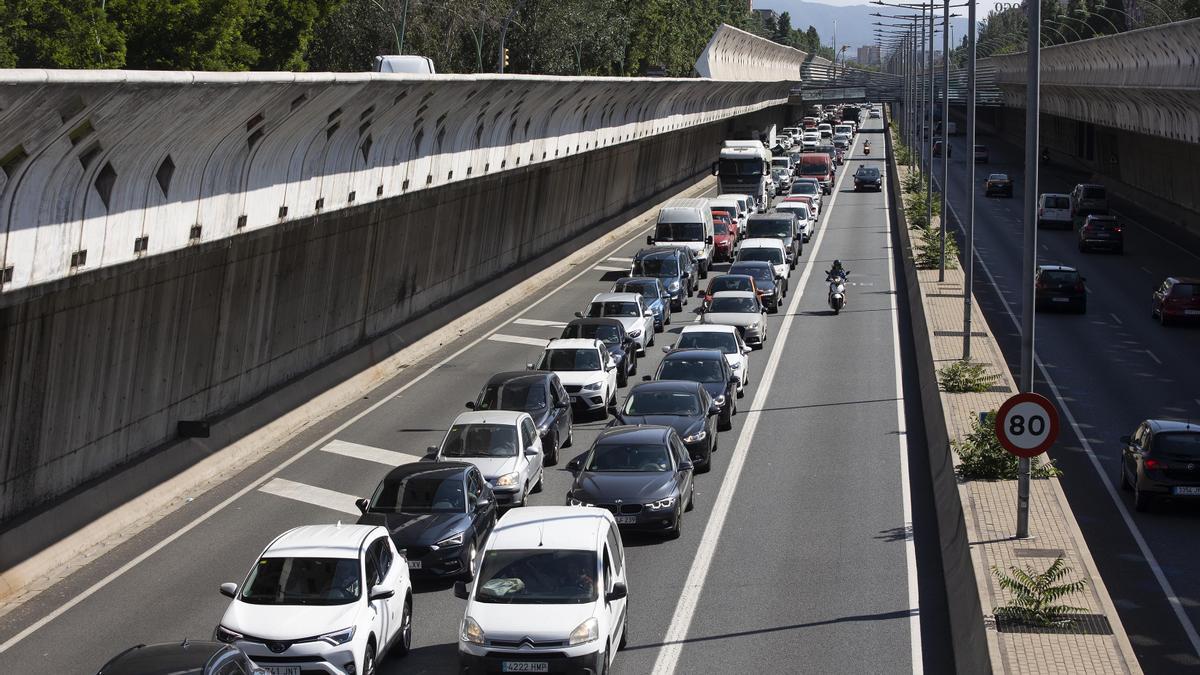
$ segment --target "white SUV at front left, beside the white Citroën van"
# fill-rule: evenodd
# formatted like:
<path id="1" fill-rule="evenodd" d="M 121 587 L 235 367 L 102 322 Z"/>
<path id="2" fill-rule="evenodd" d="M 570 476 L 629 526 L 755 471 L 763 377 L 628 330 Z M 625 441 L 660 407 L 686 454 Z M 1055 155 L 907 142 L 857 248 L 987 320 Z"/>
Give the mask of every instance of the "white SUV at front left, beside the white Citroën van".
<path id="1" fill-rule="evenodd" d="M 308 525 L 288 530 L 258 556 L 214 638 L 275 675 L 374 673 L 413 640 L 408 563 L 388 530 Z"/>

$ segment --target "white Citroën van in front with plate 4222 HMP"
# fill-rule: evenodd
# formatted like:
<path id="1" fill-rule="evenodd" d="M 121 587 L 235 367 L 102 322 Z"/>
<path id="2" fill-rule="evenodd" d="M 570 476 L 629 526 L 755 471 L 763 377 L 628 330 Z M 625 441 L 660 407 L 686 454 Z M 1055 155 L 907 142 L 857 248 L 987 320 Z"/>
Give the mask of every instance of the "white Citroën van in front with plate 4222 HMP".
<path id="1" fill-rule="evenodd" d="M 458 631 L 462 673 L 607 673 L 625 646 L 625 549 L 607 509 L 527 507 L 500 518 Z"/>

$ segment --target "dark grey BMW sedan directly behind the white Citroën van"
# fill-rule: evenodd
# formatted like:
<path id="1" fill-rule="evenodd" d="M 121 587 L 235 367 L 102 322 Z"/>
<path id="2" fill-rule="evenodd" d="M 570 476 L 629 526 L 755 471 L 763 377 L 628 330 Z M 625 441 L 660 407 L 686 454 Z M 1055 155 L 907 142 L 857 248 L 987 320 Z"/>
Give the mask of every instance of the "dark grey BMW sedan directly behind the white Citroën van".
<path id="1" fill-rule="evenodd" d="M 575 474 L 568 506 L 606 508 L 629 530 L 678 537 L 696 495 L 688 450 L 670 426 L 606 429 L 566 468 Z"/>

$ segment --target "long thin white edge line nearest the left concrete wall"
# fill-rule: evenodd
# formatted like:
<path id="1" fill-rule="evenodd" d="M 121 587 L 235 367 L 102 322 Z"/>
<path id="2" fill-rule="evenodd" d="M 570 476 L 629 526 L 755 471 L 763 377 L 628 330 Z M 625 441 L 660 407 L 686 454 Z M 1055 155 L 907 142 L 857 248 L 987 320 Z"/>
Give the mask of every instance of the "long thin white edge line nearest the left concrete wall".
<path id="1" fill-rule="evenodd" d="M 614 247 L 612 247 L 608 251 L 608 253 L 612 255 L 612 253 L 616 253 L 617 251 L 620 251 L 625 246 L 629 246 L 634 241 L 637 241 L 638 239 L 641 239 L 642 235 L 644 235 L 650 229 L 652 229 L 650 227 L 643 227 L 642 229 L 637 231 L 637 234 L 635 234 L 634 237 L 630 237 L 629 239 L 625 239 L 624 241 L 622 241 L 622 243 L 617 244 Z M 607 257 L 607 256 L 602 256 L 602 257 Z M 592 271 L 592 268 L 583 268 L 583 269 L 581 269 L 580 271 L 575 273 L 574 275 L 571 275 L 570 277 L 568 277 L 565 281 L 563 281 L 562 283 L 559 283 L 558 286 L 556 286 L 554 288 L 552 288 L 548 293 L 544 293 L 540 298 L 538 298 L 536 300 L 534 300 L 534 301 L 529 303 L 528 305 L 526 305 L 526 307 L 523 310 L 518 311 L 515 316 L 517 318 L 520 318 L 521 316 L 524 316 L 526 313 L 533 311 L 534 307 L 541 305 L 542 303 L 545 303 L 546 300 L 548 300 L 550 298 L 552 298 L 554 295 L 554 293 L 558 293 L 563 288 L 566 288 L 566 286 L 569 286 L 570 283 L 575 282 L 577 279 L 580 279 L 581 276 L 588 274 L 589 271 Z M 504 322 L 500 322 L 500 325 L 504 325 Z M 368 406 L 366 410 L 359 412 L 358 414 L 355 414 L 350 419 L 347 419 L 346 422 L 343 422 L 342 424 L 340 424 L 337 428 L 335 428 L 329 434 L 325 434 L 320 438 L 317 438 L 311 444 L 306 446 L 304 449 L 299 450 L 296 454 L 294 454 L 290 458 L 283 460 L 282 462 L 280 462 L 278 466 L 276 466 L 271 471 L 268 471 L 263 476 L 258 477 L 257 480 L 251 482 L 251 484 L 246 485 L 241 490 L 238 490 L 233 495 L 229 495 L 221 503 L 218 503 L 218 504 L 214 506 L 212 508 L 210 508 L 209 510 L 202 513 L 200 515 L 198 515 L 194 520 L 192 520 L 187 525 L 184 525 L 179 530 L 175 530 L 174 532 L 172 532 L 167 537 L 162 538 L 157 544 L 155 544 L 155 545 L 150 546 L 149 549 L 146 549 L 146 550 L 142 551 L 140 554 L 138 554 L 138 556 L 134 557 L 133 560 L 126 562 L 121 567 L 118 567 L 116 569 L 114 569 L 113 572 L 110 572 L 107 577 L 104 577 L 103 579 L 101 579 L 100 581 L 96 581 L 95 584 L 92 584 L 91 586 L 89 586 L 88 589 L 85 589 L 79 595 L 77 595 L 77 596 L 72 597 L 71 599 L 68 599 L 67 602 L 62 603 L 54 611 L 52 611 L 52 613 L 47 614 L 46 616 L 38 619 L 34 623 L 30 623 L 29 626 L 25 627 L 24 631 L 17 633 L 12 638 L 8 638 L 8 640 L 6 643 L 4 643 L 2 645 L 0 645 L 0 653 L 4 653 L 6 651 L 8 651 L 10 649 L 12 649 L 13 645 L 16 645 L 16 644 L 20 643 L 22 640 L 24 640 L 25 638 L 32 635 L 34 633 L 36 633 L 37 631 L 40 631 L 43 626 L 46 626 L 50 621 L 54 621 L 55 619 L 58 619 L 58 617 L 62 616 L 64 614 L 71 611 L 77 604 L 84 602 L 85 599 L 88 599 L 91 596 L 96 595 L 97 592 L 102 591 L 106 586 L 108 586 L 109 584 L 112 584 L 113 581 L 115 581 L 116 579 L 119 579 L 120 577 L 122 577 L 130 569 L 133 569 L 138 565 L 142 565 L 143 562 L 145 562 L 146 558 L 149 558 L 154 554 L 161 551 L 162 549 L 167 548 L 173 542 L 175 542 L 176 539 L 179 539 L 184 534 L 187 534 L 188 532 L 191 532 L 192 530 L 194 530 L 199 525 L 204 524 L 206 520 L 209 520 L 210 518 L 212 518 L 217 513 L 224 510 L 233 502 L 240 500 L 241 497 L 246 496 L 251 491 L 258 489 L 259 486 L 262 486 L 263 484 L 265 484 L 268 480 L 270 480 L 271 478 L 274 478 L 276 474 L 278 474 L 281 471 L 283 471 L 284 468 L 292 466 L 293 464 L 295 464 L 296 461 L 299 461 L 300 459 L 302 459 L 308 453 L 311 453 L 311 452 L 316 450 L 317 448 L 324 446 L 325 443 L 332 441 L 334 438 L 337 437 L 338 434 L 341 434 L 342 431 L 346 431 L 353 424 L 356 424 L 360 419 L 362 419 L 362 418 L 367 417 L 368 414 L 373 413 L 374 411 L 379 410 L 380 407 L 383 407 L 384 405 L 386 405 L 389 401 L 391 401 L 396 396 L 400 396 L 404 392 L 407 392 L 410 388 L 415 387 L 418 383 L 422 382 L 426 377 L 428 377 L 430 375 L 437 372 L 437 370 L 439 368 L 442 368 L 443 365 L 445 365 L 448 363 L 455 362 L 458 357 L 461 357 L 462 354 L 467 353 L 468 350 L 472 350 L 476 345 L 479 345 L 480 342 L 482 342 L 484 340 L 487 340 L 488 336 L 493 335 L 499 329 L 500 329 L 499 327 L 493 328 L 492 330 L 485 333 L 484 335 L 480 335 L 479 338 L 475 338 L 470 342 L 463 345 L 458 351 L 454 352 L 452 354 L 445 357 L 444 359 L 439 360 L 438 363 L 436 363 L 436 364 L 431 365 L 430 368 L 425 369 L 425 371 L 421 372 L 420 375 L 418 375 L 416 377 L 413 377 L 412 380 L 409 380 L 404 384 L 401 384 L 400 387 L 397 387 L 396 389 L 394 389 L 391 393 L 389 393 L 384 398 L 379 399 L 378 401 L 376 401 L 374 404 L 372 404 L 371 406 Z"/>

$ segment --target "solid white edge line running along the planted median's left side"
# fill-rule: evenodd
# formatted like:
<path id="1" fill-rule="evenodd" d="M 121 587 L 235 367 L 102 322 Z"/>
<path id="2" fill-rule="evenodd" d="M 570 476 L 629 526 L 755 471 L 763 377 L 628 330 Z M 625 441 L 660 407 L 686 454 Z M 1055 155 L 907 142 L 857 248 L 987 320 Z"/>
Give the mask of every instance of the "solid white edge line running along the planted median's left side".
<path id="1" fill-rule="evenodd" d="M 925 671 L 925 656 L 920 644 L 920 583 L 917 577 L 917 542 L 912 522 L 912 486 L 908 476 L 908 410 L 904 401 L 904 372 L 900 370 L 900 303 L 896 299 L 900 288 L 900 280 L 895 270 L 894 246 L 892 245 L 892 205 L 888 202 L 888 191 L 883 191 L 883 217 L 888 219 L 888 279 L 892 281 L 889 291 L 892 306 L 892 363 L 895 364 L 895 394 L 896 394 L 896 440 L 900 443 L 900 501 L 904 507 L 904 557 L 905 567 L 908 572 L 908 607 L 912 614 L 908 617 L 908 640 L 911 643 L 912 671 Z"/>

